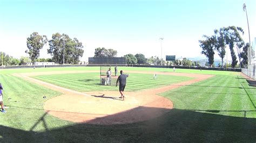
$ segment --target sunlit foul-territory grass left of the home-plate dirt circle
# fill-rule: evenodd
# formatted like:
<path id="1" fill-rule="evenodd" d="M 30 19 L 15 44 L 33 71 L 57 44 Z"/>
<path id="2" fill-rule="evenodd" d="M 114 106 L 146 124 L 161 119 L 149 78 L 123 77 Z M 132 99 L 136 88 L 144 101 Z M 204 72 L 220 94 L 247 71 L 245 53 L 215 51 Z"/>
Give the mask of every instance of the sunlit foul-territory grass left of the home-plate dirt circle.
<path id="1" fill-rule="evenodd" d="M 24 132 L 44 132 L 45 128 L 51 130 L 59 127 L 60 123 L 63 125 L 73 124 L 47 115 L 43 110 L 44 102 L 61 95 L 60 92 L 24 81 L 22 78 L 10 74 L 1 75 L 0 81 L 4 88 L 4 105 L 9 107 L 9 109 L 6 109 L 7 113 L 1 113 L 0 128 L 16 128 Z M 43 98 L 43 96 L 46 96 L 46 98 Z M 15 140 L 18 141 L 19 134 L 15 132 L 11 134 L 15 135 Z M 2 141 L 12 140 L 8 132 L 1 132 L 0 135 L 3 137 Z M 7 137 L 5 137 L 6 135 Z M 25 138 L 21 137 L 20 141 L 25 141 Z"/>

